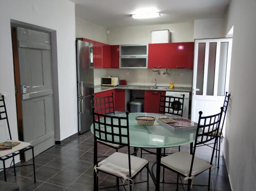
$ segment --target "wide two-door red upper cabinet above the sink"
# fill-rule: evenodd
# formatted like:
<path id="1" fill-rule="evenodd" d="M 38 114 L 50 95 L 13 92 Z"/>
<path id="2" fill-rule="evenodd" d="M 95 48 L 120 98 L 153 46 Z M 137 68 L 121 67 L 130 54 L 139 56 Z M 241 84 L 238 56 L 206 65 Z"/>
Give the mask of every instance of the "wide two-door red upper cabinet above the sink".
<path id="1" fill-rule="evenodd" d="M 194 42 L 148 44 L 148 68 L 193 69 Z"/>

